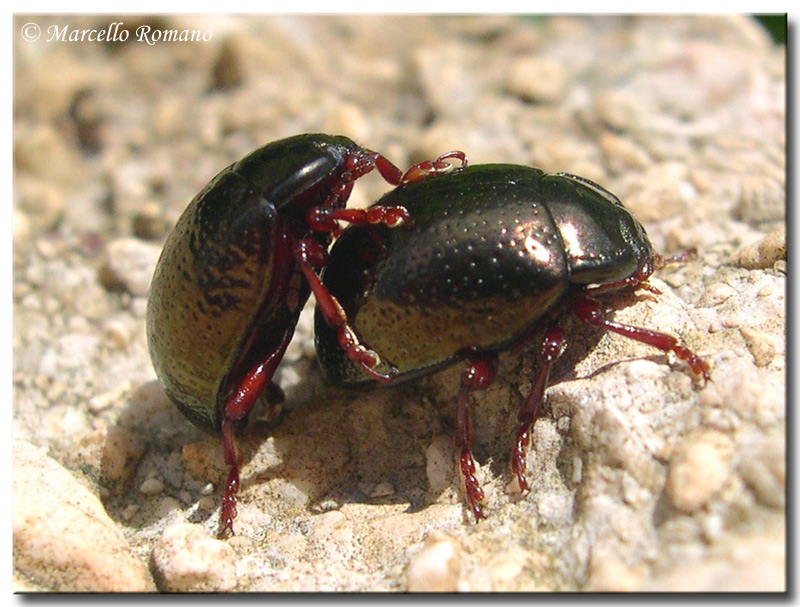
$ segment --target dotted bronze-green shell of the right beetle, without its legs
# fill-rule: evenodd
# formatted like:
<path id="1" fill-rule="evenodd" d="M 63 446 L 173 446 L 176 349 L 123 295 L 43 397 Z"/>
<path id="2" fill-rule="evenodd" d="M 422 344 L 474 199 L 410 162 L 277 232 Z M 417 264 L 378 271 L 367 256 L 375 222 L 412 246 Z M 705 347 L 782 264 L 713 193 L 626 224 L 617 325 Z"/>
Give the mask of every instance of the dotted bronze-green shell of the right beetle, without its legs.
<path id="1" fill-rule="evenodd" d="M 641 225 L 610 193 L 571 175 L 472 165 L 381 198 L 413 224 L 345 230 L 323 273 L 360 339 L 397 379 L 517 341 L 571 289 L 652 261 Z M 317 317 L 317 353 L 336 384 L 369 378 Z"/>

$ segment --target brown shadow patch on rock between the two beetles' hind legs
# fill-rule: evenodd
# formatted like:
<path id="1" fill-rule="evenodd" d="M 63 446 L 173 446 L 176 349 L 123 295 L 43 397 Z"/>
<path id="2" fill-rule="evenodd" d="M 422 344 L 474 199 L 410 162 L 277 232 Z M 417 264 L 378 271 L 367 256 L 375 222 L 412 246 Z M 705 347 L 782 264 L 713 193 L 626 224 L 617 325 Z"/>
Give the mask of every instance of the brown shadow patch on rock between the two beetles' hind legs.
<path id="1" fill-rule="evenodd" d="M 349 503 L 416 507 L 426 482 L 425 436 L 437 428 L 435 411 L 419 386 L 324 387 L 274 428 L 270 450 L 279 463 L 257 464 L 243 485 L 246 490 L 248 483 L 291 484 L 308 497 L 314 513 Z M 243 441 L 250 443 L 250 436 Z M 251 461 L 260 457 L 261 448 L 255 447 Z"/>

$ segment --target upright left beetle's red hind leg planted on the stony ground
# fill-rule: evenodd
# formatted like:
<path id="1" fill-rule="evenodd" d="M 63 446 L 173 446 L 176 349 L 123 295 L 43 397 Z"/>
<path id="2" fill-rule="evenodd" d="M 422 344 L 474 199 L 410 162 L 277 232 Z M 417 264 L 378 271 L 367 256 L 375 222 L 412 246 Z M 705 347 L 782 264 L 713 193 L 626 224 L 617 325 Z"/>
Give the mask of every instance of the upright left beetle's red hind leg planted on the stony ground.
<path id="1" fill-rule="evenodd" d="M 236 392 L 225 403 L 222 419 L 222 448 L 225 454 L 225 463 L 230 467 L 230 471 L 220 509 L 220 535 L 233 535 L 233 519 L 236 518 L 236 493 L 239 491 L 239 466 L 242 463 L 234 434 L 236 423 L 247 417 L 256 400 L 264 392 L 267 392 L 273 402 L 282 396 L 283 391 L 272 383 L 272 376 L 292 340 L 293 333 L 294 327 L 286 331 L 278 347 L 267 354 L 244 376 Z"/>

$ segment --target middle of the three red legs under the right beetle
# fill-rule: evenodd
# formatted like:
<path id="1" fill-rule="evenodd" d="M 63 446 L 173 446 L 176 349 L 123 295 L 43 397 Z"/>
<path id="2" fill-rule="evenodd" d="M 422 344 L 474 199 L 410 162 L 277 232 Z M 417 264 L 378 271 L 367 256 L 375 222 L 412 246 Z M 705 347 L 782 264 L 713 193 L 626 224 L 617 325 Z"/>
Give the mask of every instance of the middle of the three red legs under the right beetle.
<path id="1" fill-rule="evenodd" d="M 525 479 L 525 471 L 528 467 L 527 450 L 531 440 L 533 424 L 539 418 L 542 403 L 544 402 L 544 391 L 550 379 L 550 370 L 553 363 L 564 353 L 567 347 L 567 339 L 561 327 L 550 327 L 544 335 L 542 342 L 542 366 L 536 372 L 536 377 L 531 385 L 528 398 L 520 411 L 520 426 L 517 431 L 517 442 L 511 454 L 511 470 L 517 477 L 517 483 L 521 492 L 528 490 L 528 481 Z"/>

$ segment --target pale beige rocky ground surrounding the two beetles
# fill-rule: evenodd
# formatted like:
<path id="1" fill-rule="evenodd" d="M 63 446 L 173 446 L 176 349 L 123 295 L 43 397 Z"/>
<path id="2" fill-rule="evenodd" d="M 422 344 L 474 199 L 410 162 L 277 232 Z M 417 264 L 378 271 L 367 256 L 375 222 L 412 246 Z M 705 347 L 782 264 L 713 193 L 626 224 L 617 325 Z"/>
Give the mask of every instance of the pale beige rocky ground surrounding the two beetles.
<path id="1" fill-rule="evenodd" d="M 149 44 L 142 26 L 150 42 L 211 37 Z M 17 590 L 785 588 L 786 58 L 754 21 L 36 15 L 14 28 Z M 69 41 L 84 29 L 106 40 Z M 679 336 L 711 381 L 567 320 L 520 497 L 508 462 L 537 346 L 504 353 L 472 399 L 488 494 L 474 525 L 454 466 L 459 369 L 328 388 L 308 307 L 280 369 L 282 421 L 243 432 L 237 535 L 216 539 L 222 451 L 155 382 L 149 278 L 217 171 L 302 132 L 400 166 L 460 149 L 603 184 L 658 250 L 699 252 L 615 317 Z M 386 187 L 370 175 L 352 204 Z"/>

